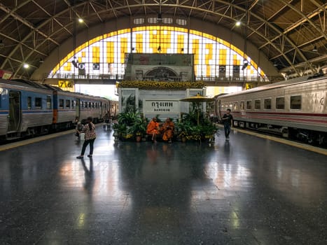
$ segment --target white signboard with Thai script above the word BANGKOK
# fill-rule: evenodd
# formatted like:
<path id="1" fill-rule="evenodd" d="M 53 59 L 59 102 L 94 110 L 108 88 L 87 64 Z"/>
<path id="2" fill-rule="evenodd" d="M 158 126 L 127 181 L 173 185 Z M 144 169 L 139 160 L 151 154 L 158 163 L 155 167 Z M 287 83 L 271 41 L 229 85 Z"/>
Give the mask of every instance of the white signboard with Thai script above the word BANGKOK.
<path id="1" fill-rule="evenodd" d="M 145 100 L 144 113 L 179 113 L 180 106 L 178 100 L 158 99 Z"/>

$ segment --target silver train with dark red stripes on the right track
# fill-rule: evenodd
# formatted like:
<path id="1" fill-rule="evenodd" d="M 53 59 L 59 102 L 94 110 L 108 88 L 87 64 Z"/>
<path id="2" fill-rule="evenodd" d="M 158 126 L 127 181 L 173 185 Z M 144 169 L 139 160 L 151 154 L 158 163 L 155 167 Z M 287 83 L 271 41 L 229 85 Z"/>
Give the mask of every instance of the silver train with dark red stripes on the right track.
<path id="1" fill-rule="evenodd" d="M 284 80 L 215 97 L 218 120 L 231 109 L 234 127 L 327 146 L 327 76 Z"/>

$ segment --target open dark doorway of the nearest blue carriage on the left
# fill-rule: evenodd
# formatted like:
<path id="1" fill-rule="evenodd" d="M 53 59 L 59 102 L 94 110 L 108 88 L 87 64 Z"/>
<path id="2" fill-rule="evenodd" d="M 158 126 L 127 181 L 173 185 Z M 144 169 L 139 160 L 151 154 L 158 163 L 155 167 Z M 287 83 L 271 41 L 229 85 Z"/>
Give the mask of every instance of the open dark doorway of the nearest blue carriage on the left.
<path id="1" fill-rule="evenodd" d="M 22 110 L 20 107 L 20 92 L 11 90 L 9 92 L 9 124 L 8 132 L 18 131 L 22 121 Z"/>

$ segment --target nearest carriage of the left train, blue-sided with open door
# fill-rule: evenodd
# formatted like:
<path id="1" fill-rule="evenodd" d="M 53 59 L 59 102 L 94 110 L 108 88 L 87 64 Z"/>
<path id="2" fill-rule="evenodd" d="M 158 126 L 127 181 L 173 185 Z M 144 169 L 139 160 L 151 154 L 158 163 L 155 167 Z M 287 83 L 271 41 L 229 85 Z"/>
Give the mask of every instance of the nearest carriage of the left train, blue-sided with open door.
<path id="1" fill-rule="evenodd" d="M 43 134 L 53 122 L 53 92 L 26 80 L 0 80 L 0 137 Z"/>

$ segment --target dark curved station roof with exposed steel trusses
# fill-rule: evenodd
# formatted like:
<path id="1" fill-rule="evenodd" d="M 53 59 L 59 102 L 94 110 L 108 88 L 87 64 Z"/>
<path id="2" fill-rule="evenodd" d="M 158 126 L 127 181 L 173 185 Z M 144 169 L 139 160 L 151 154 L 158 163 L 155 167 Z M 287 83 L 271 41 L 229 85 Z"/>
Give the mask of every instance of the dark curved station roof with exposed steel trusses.
<path id="1" fill-rule="evenodd" d="M 30 78 L 40 60 L 73 36 L 74 18 L 85 20 L 76 27 L 81 31 L 116 18 L 159 12 L 246 34 L 280 72 L 300 74 L 327 64 L 325 0 L 1 0 L 0 69 Z M 246 31 L 235 28 L 237 20 Z M 23 62 L 31 65 L 28 71 Z"/>

